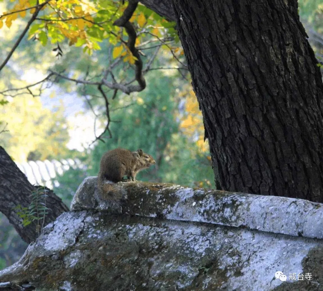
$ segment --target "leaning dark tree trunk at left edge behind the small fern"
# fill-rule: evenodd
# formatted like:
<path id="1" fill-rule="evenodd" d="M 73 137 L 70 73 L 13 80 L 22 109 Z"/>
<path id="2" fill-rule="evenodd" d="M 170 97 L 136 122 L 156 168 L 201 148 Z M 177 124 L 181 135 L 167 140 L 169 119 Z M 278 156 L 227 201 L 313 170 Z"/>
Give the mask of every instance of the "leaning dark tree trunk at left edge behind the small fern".
<path id="1" fill-rule="evenodd" d="M 28 207 L 31 201 L 31 192 L 37 187 L 31 185 L 25 174 L 19 170 L 9 155 L 0 146 L 0 212 L 4 213 L 28 244 L 38 237 L 37 223 L 22 226 L 22 219 L 17 215 L 17 205 Z M 49 189 L 47 189 L 49 190 Z M 61 213 L 68 211 L 68 207 L 53 191 L 47 192 L 46 206 L 48 214 L 45 216 L 44 226 L 56 219 Z M 40 221 L 41 225 L 43 224 Z"/>

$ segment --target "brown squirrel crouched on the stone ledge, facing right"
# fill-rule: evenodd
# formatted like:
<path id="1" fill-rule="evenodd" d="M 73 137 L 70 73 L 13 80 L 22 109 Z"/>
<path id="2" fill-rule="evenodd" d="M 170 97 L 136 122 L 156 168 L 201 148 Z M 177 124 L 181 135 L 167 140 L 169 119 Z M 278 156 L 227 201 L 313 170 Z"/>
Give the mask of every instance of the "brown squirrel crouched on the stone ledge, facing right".
<path id="1" fill-rule="evenodd" d="M 141 149 L 132 152 L 125 149 L 107 151 L 101 158 L 98 174 L 97 185 L 100 197 L 110 201 L 127 199 L 127 195 L 123 194 L 120 188 L 106 181 L 114 183 L 136 181 L 137 173 L 152 164 L 155 164 L 153 157 Z M 127 176 L 127 179 L 124 179 L 124 176 Z"/>

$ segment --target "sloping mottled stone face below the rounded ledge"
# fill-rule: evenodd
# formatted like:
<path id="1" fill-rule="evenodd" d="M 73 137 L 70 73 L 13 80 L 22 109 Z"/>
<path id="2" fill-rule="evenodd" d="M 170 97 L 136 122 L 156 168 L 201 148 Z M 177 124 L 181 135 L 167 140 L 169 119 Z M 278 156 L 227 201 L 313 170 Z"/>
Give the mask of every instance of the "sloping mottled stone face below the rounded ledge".
<path id="1" fill-rule="evenodd" d="M 311 283 L 318 284 L 321 266 L 304 264 L 313 248 L 320 250 L 316 259 L 322 260 L 322 240 L 207 223 L 69 212 L 49 224 L 19 262 L 0 272 L 0 281 L 28 282 L 48 291 L 274 290 L 291 285 L 275 279 L 276 271 L 287 277 L 311 273 Z"/>

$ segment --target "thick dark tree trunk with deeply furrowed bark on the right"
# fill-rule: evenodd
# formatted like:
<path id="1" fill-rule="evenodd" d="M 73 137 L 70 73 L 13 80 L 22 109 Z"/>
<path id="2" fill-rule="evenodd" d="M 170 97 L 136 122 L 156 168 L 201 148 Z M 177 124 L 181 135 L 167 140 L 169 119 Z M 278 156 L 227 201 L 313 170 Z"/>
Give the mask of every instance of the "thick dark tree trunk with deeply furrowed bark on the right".
<path id="1" fill-rule="evenodd" d="M 296 0 L 172 0 L 218 189 L 323 202 L 323 84 Z"/>

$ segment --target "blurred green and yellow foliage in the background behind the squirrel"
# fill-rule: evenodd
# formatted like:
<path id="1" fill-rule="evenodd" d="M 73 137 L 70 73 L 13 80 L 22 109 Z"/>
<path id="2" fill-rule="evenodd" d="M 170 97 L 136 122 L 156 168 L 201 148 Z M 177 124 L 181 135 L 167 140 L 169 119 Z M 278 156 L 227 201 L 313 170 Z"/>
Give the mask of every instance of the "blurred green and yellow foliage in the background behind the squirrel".
<path id="1" fill-rule="evenodd" d="M 319 60 L 323 56 L 323 0 L 300 0 L 299 14 L 310 36 L 310 43 Z M 0 11 L 7 4 L 0 2 Z M 10 5 L 10 3 L 9 3 Z M 0 13 L 1 14 L 1 13 Z M 25 20 L 17 19 L 9 28 L 0 30 L 1 51 L 11 49 L 18 30 Z M 22 41 L 0 78 L 0 91 L 24 87 L 46 76 L 48 68 L 68 70 L 68 76 L 78 78 L 96 74 L 108 62 L 107 52 L 113 48 L 108 42 L 100 43 L 101 50 L 91 56 L 79 47 L 62 44 L 62 57 L 57 59 L 50 44 Z M 180 44 L 177 44 L 180 48 Z M 179 51 L 181 52 L 181 51 Z M 152 51 L 145 50 L 148 56 Z M 172 53 L 162 48 L 154 67 L 176 66 Z M 117 66 L 118 78 L 131 78 L 132 71 Z M 128 76 L 128 77 L 127 77 Z M 185 78 L 184 78 L 185 77 Z M 176 183 L 191 187 L 214 188 L 207 141 L 204 142 L 203 119 L 189 74 L 177 69 L 152 70 L 146 76 L 147 87 L 139 93 L 118 93 L 106 90 L 109 98 L 112 137 L 105 133 L 105 142 L 96 141 L 106 124 L 105 102 L 94 86 L 76 85 L 59 79 L 41 96 L 22 94 L 7 97 L 0 105 L 0 145 L 14 161 L 78 158 L 83 169 L 70 169 L 58 177 L 54 192 L 68 206 L 78 187 L 87 176 L 95 176 L 105 151 L 120 147 L 130 150 L 141 148 L 150 153 L 156 165 L 142 171 L 137 179 Z M 0 214 L 0 269 L 14 263 L 26 244 L 16 234 L 7 219 Z"/>

